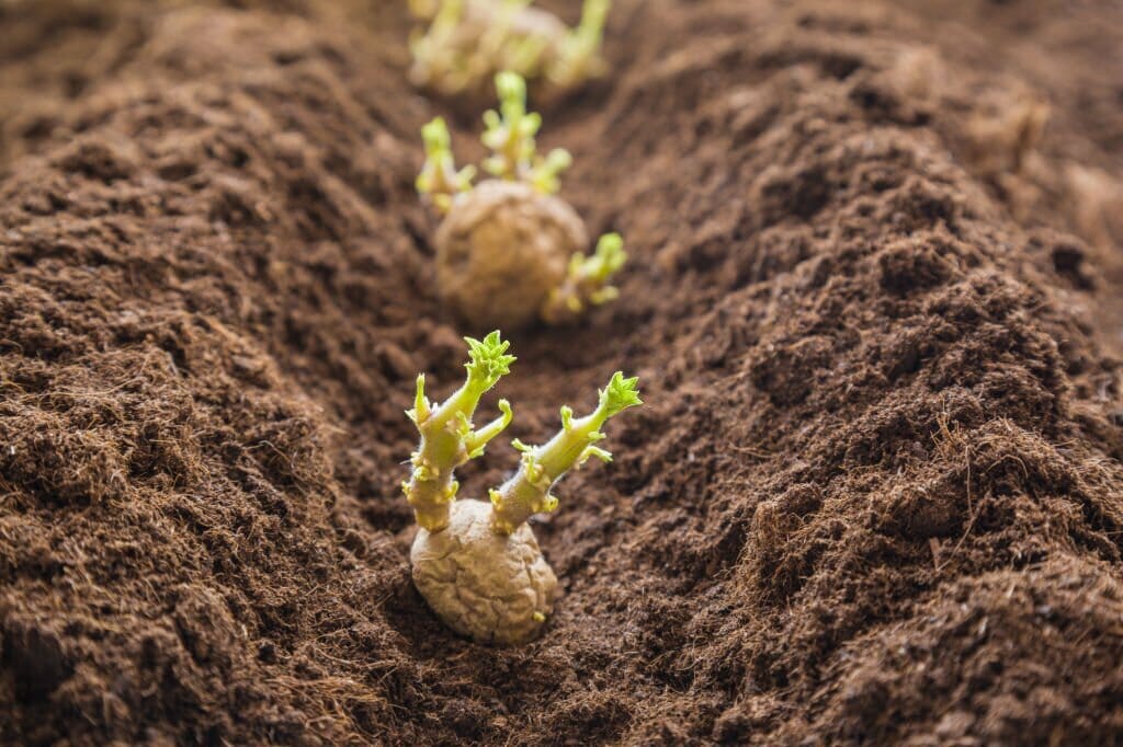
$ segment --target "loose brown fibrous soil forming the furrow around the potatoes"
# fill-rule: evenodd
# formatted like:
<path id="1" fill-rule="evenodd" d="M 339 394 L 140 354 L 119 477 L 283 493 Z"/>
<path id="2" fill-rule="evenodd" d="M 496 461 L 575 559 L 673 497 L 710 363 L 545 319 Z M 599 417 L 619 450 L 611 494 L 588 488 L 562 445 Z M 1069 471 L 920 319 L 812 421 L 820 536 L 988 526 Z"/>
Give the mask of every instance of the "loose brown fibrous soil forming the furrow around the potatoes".
<path id="1" fill-rule="evenodd" d="M 226 4 L 0 6 L 0 741 L 1123 740 L 1117 4 L 617 1 L 544 145 L 633 260 L 497 395 L 648 404 L 521 649 L 408 571 L 451 104 L 404 3 Z"/>

